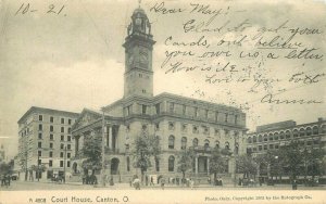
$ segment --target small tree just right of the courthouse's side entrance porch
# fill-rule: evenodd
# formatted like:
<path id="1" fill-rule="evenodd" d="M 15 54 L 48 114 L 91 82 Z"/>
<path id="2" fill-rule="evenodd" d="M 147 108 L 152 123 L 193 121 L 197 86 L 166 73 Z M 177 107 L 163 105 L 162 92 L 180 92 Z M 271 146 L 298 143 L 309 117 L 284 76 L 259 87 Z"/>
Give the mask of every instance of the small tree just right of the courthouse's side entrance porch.
<path id="1" fill-rule="evenodd" d="M 220 151 L 217 148 L 214 148 L 211 153 L 210 173 L 214 174 L 214 180 L 216 179 L 217 174 L 222 174 L 227 170 L 227 161 L 223 153 L 224 151 Z"/>

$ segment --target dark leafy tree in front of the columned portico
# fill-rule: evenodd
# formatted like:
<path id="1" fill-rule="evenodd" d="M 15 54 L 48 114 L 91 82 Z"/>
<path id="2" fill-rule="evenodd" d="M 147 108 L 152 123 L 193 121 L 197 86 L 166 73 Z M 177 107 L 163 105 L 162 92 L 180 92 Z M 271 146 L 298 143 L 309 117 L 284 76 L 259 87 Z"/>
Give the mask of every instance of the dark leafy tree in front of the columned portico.
<path id="1" fill-rule="evenodd" d="M 84 169 L 101 169 L 102 166 L 102 137 L 100 135 L 91 135 L 86 138 L 82 149 L 83 155 L 86 160 L 82 166 Z"/>

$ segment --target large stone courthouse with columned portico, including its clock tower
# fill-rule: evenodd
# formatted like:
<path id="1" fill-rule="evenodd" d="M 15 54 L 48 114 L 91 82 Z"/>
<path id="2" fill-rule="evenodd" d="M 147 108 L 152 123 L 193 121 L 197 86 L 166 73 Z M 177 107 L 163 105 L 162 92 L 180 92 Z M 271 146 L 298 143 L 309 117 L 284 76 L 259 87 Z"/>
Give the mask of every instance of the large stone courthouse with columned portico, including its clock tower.
<path id="1" fill-rule="evenodd" d="M 105 124 L 105 174 L 123 181 L 139 175 L 140 170 L 133 166 L 133 141 L 137 136 L 152 135 L 160 138 L 162 153 L 160 160 L 152 161 L 147 175 L 180 177 L 177 154 L 192 146 L 197 152 L 192 174 L 206 178 L 212 148 L 227 149 L 235 154 L 246 153 L 246 114 L 233 106 L 176 94 L 153 95 L 154 43 L 149 18 L 138 8 L 131 15 L 123 44 L 124 97 L 101 110 Z M 73 174 L 84 174 L 82 149 L 93 136 L 102 136 L 102 112 L 85 109 L 80 113 L 72 130 L 75 140 Z M 234 173 L 231 157 L 228 173 Z"/>

